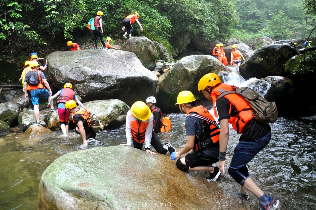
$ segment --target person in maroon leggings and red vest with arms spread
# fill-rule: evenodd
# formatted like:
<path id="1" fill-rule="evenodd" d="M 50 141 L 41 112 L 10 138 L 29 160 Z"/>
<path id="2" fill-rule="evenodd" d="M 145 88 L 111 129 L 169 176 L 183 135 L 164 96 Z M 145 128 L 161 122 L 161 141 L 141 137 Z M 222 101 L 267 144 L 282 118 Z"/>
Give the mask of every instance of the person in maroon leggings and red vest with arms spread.
<path id="1" fill-rule="evenodd" d="M 59 90 L 54 96 L 51 97 L 49 100 L 47 107 L 51 106 L 54 99 L 59 96 L 57 101 L 57 108 L 58 108 L 58 117 L 60 122 L 60 128 L 63 131 L 63 136 L 67 136 L 68 133 L 68 120 L 70 116 L 70 112 L 66 109 L 65 104 L 68 100 L 76 100 L 76 102 L 82 107 L 85 108 L 84 105 L 79 101 L 78 97 L 76 96 L 75 91 L 72 90 L 71 83 L 65 83 L 64 88 Z"/>

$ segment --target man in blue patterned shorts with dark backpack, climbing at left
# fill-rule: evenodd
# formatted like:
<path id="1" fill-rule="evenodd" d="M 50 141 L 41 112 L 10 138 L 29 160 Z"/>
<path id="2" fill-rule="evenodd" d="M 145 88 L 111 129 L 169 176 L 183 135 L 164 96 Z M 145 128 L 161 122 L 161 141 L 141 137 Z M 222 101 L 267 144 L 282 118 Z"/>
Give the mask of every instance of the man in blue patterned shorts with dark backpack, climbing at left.
<path id="1" fill-rule="evenodd" d="M 28 100 L 27 91 L 31 92 L 31 100 L 34 105 L 34 114 L 36 117 L 36 122 L 33 123 L 35 125 L 40 126 L 40 97 L 44 97 L 49 100 L 52 96 L 52 90 L 46 80 L 46 77 L 42 71 L 39 70 L 39 64 L 36 60 L 32 60 L 30 62 L 30 67 L 32 71 L 28 71 L 24 77 L 24 93 L 25 98 Z M 44 88 L 44 85 L 46 89 Z M 53 102 L 51 104 L 51 111 L 56 111 L 54 108 Z"/>

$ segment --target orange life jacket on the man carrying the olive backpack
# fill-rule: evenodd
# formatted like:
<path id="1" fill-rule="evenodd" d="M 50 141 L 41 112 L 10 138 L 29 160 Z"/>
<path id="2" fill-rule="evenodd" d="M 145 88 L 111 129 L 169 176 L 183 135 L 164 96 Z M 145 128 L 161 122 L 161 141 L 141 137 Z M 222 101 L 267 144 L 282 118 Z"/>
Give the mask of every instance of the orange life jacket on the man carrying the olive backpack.
<path id="1" fill-rule="evenodd" d="M 213 99 L 213 107 L 215 107 L 216 99 L 219 95 L 221 95 L 223 92 L 235 90 L 236 87 L 221 83 L 219 86 L 217 86 L 211 93 L 211 97 Z M 232 105 L 234 105 L 238 111 L 238 114 L 236 116 L 231 116 L 228 120 L 228 123 L 233 125 L 234 130 L 237 133 L 242 133 L 242 130 L 244 129 L 247 122 L 249 122 L 252 118 L 252 108 L 246 102 L 246 100 L 238 95 L 237 93 L 228 94 L 224 96 L 230 101 L 230 107 L 229 107 L 229 115 L 232 110 Z M 216 113 L 216 108 L 214 108 L 214 114 L 216 117 L 218 117 Z"/>

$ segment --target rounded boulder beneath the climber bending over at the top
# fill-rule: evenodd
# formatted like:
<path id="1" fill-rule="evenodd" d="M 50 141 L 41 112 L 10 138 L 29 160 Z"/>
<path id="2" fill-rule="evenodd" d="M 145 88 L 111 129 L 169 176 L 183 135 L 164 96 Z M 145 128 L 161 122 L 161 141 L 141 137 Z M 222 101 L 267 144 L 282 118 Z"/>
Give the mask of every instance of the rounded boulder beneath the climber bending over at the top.
<path id="1" fill-rule="evenodd" d="M 140 36 L 128 39 L 120 49 L 134 52 L 145 68 L 150 71 L 154 70 L 158 59 L 158 53 L 154 42 L 147 37 Z"/>

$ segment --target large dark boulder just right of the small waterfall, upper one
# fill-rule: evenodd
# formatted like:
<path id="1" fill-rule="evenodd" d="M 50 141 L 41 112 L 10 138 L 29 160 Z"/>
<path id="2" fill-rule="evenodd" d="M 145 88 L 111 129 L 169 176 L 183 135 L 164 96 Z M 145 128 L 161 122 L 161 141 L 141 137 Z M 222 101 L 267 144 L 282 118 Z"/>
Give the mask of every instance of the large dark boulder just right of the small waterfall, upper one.
<path id="1" fill-rule="evenodd" d="M 240 75 L 245 79 L 285 76 L 284 64 L 297 54 L 295 46 L 289 43 L 263 46 L 240 65 Z"/>

